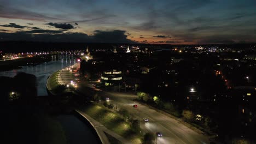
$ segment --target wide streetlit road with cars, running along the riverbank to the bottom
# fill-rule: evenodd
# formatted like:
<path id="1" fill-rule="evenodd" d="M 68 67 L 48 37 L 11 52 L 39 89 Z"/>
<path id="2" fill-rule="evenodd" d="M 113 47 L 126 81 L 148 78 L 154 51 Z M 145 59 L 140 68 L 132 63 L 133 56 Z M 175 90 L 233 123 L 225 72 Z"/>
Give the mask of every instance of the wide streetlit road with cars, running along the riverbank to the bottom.
<path id="1" fill-rule="evenodd" d="M 77 68 L 76 65 L 75 68 Z M 68 70 L 62 70 L 61 75 L 62 79 L 59 79 L 61 83 L 68 83 L 70 80 L 74 79 L 74 76 L 69 75 L 70 72 Z M 63 79 L 64 78 L 64 79 Z M 86 94 L 86 87 L 91 87 L 90 82 L 81 82 L 78 83 L 78 88 L 76 91 L 80 93 Z M 119 92 L 105 92 L 99 91 L 99 95 L 103 97 L 108 97 L 109 103 L 114 104 L 119 109 L 124 107 L 130 113 L 132 113 L 133 117 L 140 120 L 142 131 L 151 131 L 152 133 L 156 133 L 159 131 L 162 133 L 162 137 L 158 137 L 155 143 L 210 143 L 207 136 L 196 133 L 185 125 L 179 123 L 174 118 L 168 117 L 160 112 L 157 112 L 149 107 L 138 104 L 133 99 L 136 98 L 136 95 L 129 93 L 119 93 Z M 137 104 L 138 107 L 133 107 L 134 104 Z M 146 117 L 149 119 L 149 122 L 144 122 L 143 118 Z"/>

